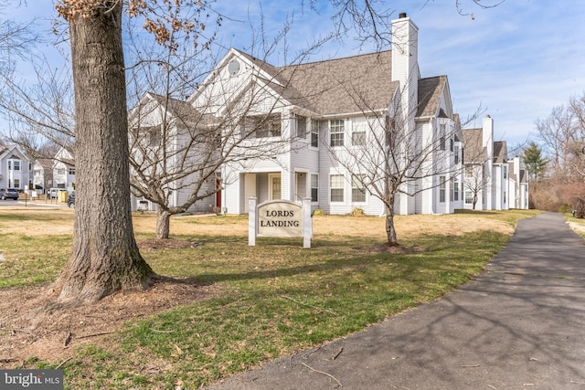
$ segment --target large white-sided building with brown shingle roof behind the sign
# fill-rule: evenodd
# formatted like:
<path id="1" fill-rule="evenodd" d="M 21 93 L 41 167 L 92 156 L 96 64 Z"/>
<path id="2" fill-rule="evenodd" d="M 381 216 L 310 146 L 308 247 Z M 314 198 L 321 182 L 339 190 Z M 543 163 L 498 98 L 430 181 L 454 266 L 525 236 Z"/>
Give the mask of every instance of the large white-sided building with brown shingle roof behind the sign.
<path id="1" fill-rule="evenodd" d="M 253 196 L 259 203 L 310 197 L 314 209 L 329 214 L 356 207 L 367 215 L 384 214 L 383 203 L 356 180 L 361 173 L 332 153 L 344 153 L 348 145 L 384 148 L 367 144 L 368 132 L 384 132 L 393 118 L 416 134 L 410 142 L 418 143 L 419 151 L 441 138 L 441 148 L 424 164 L 429 170 L 443 166 L 442 174 L 406 184 L 416 195 L 398 194 L 395 212 L 441 214 L 463 207 L 463 136 L 447 77 L 420 78 L 418 27 L 406 14 L 392 21 L 392 28 L 392 50 L 286 67 L 229 50 L 187 100 L 224 121 L 232 115 L 231 128 L 242 133 L 256 129 L 242 149 L 266 148 L 263 155 L 250 152 L 247 161 L 223 165 L 225 212 L 247 213 Z M 238 109 L 244 112 L 240 117 L 234 114 Z M 286 144 L 274 153 L 267 145 L 279 141 Z"/>

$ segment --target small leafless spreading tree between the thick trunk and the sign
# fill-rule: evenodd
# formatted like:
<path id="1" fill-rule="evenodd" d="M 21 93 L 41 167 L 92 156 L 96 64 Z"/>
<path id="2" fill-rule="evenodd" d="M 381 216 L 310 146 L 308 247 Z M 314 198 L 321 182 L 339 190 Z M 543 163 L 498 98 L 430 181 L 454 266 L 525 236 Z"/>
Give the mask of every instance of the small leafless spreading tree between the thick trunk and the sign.
<path id="1" fill-rule="evenodd" d="M 258 47 L 253 56 L 234 50 L 231 53 L 248 58 L 259 69 L 271 67 L 258 58 L 271 56 L 275 47 L 285 47 L 283 42 L 291 26 L 292 20 L 287 20 L 271 37 L 260 28 L 253 34 L 253 46 Z M 250 24 L 252 31 L 254 28 Z M 318 38 L 301 50 L 292 59 L 293 64 L 302 62 L 330 37 Z M 208 67 L 218 60 L 209 50 L 179 53 L 171 48 L 157 52 L 151 47 L 136 52 L 148 52 L 151 57 L 142 58 L 132 69 L 133 90 L 143 95 L 130 115 L 131 185 L 134 195 L 156 205 L 156 237 L 168 238 L 170 216 L 194 205 L 198 210 L 213 209 L 213 195 L 235 179 L 219 177 L 223 166 L 275 159 L 293 148 L 297 134 L 283 131 L 282 124 L 292 119 L 282 117 L 279 111 L 285 104 L 282 98 L 266 99 L 266 81 L 259 70 L 242 84 L 213 79 L 213 96 L 205 97 L 186 75 L 200 80 L 200 75 L 210 72 Z M 273 77 L 286 88 L 295 68 L 291 65 L 277 70 Z M 216 107 L 221 100 L 231 101 L 218 113 Z"/>

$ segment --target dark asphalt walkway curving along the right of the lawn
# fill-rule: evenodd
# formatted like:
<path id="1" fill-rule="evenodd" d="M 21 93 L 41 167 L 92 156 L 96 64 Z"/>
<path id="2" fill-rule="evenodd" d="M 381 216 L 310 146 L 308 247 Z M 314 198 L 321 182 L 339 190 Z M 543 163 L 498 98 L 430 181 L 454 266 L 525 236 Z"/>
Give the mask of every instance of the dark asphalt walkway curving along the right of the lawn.
<path id="1" fill-rule="evenodd" d="M 486 272 L 462 289 L 209 389 L 340 386 L 585 389 L 583 239 L 560 214 L 520 220 Z"/>

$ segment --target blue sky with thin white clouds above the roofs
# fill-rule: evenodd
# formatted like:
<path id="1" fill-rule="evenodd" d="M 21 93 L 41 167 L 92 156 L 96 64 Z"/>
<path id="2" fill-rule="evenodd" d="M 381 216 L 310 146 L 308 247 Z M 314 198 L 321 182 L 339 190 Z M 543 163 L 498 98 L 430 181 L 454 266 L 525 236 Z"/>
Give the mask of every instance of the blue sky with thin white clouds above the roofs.
<path id="1" fill-rule="evenodd" d="M 287 37 L 294 52 L 331 28 L 331 10 L 328 2 L 322 3 L 316 14 L 302 9 L 301 1 L 264 1 L 260 6 L 258 1 L 218 0 L 219 9 L 232 16 L 224 21 L 218 42 L 250 50 L 249 18 L 259 26 L 262 13 L 266 31 L 274 34 L 286 16 L 294 16 Z M 472 0 L 460 3 L 465 15 L 458 13 L 455 0 L 388 0 L 378 6 L 395 10 L 395 17 L 406 12 L 419 27 L 421 76 L 448 76 L 453 107 L 462 118 L 481 105 L 482 116 L 490 114 L 495 120 L 496 138 L 510 146 L 534 139 L 537 119 L 546 118 L 553 107 L 567 104 L 570 97 L 585 93 L 585 4 L 505 0 L 482 9 Z M 5 16 L 16 20 L 39 16 L 36 26 L 49 36 L 55 16 L 51 1 L 27 0 L 27 6 L 5 11 Z M 51 58 L 58 57 L 52 47 L 43 50 Z M 326 45 L 313 59 L 369 50 L 371 47 L 360 46 L 350 36 L 343 43 Z M 277 53 L 273 62 L 282 58 L 284 54 Z M 474 124 L 481 126 L 481 117 Z"/>

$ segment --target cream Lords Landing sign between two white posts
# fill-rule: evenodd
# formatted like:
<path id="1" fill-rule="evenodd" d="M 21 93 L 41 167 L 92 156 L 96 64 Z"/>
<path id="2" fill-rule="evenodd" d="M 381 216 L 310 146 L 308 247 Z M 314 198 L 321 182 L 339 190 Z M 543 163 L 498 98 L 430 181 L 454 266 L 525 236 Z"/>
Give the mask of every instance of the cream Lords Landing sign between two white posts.
<path id="1" fill-rule="evenodd" d="M 303 237 L 303 248 L 311 248 L 313 219 L 311 198 L 303 205 L 288 200 L 273 200 L 256 206 L 250 197 L 248 215 L 248 245 L 256 245 L 256 237 Z"/>

